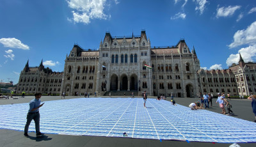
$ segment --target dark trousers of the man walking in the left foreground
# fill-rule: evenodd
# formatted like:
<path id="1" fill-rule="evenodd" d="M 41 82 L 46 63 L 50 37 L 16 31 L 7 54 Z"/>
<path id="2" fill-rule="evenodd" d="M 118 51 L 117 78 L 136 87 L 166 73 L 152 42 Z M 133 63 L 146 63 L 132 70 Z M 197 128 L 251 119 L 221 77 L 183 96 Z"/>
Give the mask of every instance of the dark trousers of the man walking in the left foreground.
<path id="1" fill-rule="evenodd" d="M 27 114 L 27 123 L 24 128 L 24 133 L 28 133 L 28 128 L 31 123 L 31 121 L 35 121 L 35 127 L 36 127 L 36 133 L 40 132 L 40 113 L 39 112 L 28 112 Z"/>

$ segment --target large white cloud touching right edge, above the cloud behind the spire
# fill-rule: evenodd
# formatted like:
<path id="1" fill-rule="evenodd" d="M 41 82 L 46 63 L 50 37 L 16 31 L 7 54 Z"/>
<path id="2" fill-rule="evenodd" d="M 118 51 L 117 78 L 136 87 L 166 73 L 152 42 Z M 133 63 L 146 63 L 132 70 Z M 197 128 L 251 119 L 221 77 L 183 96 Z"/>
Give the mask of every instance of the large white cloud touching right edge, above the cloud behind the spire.
<path id="1" fill-rule="evenodd" d="M 234 35 L 234 42 L 228 47 L 234 48 L 239 45 L 255 45 L 256 44 L 256 21 L 253 22 L 246 29 L 238 30 Z"/>

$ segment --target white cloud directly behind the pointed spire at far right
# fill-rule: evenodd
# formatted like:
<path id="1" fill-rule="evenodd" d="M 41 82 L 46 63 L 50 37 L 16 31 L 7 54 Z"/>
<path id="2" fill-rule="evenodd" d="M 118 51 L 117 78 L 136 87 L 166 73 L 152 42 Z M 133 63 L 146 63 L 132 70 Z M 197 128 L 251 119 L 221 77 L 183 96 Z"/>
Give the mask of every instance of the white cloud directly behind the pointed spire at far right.
<path id="1" fill-rule="evenodd" d="M 237 54 L 230 54 L 228 57 L 226 63 L 227 66 L 232 65 L 232 63 L 238 63 L 240 56 L 239 53 L 241 54 L 242 58 L 244 59 L 244 62 L 248 61 L 255 61 L 256 59 L 256 45 L 250 45 L 249 47 L 244 47 L 240 50 L 238 50 Z"/>

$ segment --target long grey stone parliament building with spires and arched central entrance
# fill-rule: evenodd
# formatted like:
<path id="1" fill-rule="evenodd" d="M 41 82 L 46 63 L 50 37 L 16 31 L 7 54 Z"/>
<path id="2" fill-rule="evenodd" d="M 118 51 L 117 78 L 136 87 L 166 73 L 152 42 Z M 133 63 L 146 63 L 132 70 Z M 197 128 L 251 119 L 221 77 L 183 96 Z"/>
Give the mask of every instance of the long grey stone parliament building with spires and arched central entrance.
<path id="1" fill-rule="evenodd" d="M 146 66 L 145 66 L 146 65 Z M 148 68 L 149 67 L 149 68 Z M 124 91 L 170 97 L 196 97 L 198 93 L 256 93 L 256 63 L 233 63 L 225 70 L 204 70 L 195 48 L 184 39 L 177 45 L 151 47 L 146 31 L 141 35 L 112 37 L 106 32 L 97 50 L 75 44 L 65 59 L 63 72 L 52 72 L 26 63 L 20 72 L 16 93 L 51 95 L 106 95 Z"/>

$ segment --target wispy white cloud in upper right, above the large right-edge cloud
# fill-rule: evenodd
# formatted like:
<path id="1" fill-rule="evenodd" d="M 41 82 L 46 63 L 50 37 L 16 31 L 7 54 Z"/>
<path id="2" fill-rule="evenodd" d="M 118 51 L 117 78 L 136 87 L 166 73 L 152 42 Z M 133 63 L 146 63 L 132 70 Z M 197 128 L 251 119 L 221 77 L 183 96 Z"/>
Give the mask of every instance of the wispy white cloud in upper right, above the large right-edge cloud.
<path id="1" fill-rule="evenodd" d="M 218 6 L 219 7 L 219 6 Z M 239 10 L 241 8 L 241 6 L 228 6 L 228 7 L 221 7 L 221 8 L 217 8 L 217 15 L 216 17 L 228 17 L 233 15 L 236 10 Z"/>

